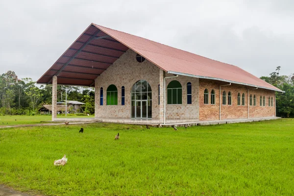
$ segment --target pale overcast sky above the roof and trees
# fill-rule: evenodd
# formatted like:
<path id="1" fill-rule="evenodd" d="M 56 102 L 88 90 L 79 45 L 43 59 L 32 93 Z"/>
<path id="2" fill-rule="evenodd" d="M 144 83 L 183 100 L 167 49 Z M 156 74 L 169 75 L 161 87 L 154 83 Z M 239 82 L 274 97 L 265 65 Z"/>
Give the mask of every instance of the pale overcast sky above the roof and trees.
<path id="1" fill-rule="evenodd" d="M 258 77 L 294 73 L 293 0 L 0 0 L 0 74 L 36 81 L 91 23 Z"/>

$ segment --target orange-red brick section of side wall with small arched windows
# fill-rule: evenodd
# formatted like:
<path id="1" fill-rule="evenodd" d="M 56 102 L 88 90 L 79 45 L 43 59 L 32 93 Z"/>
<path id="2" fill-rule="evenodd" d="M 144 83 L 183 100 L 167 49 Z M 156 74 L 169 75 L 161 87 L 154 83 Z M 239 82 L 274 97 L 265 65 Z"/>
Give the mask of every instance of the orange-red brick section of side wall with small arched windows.
<path id="1" fill-rule="evenodd" d="M 219 101 L 220 101 L 220 85 L 228 84 L 226 82 L 209 80 L 209 79 L 199 79 L 199 120 L 200 121 L 212 121 L 219 120 Z M 209 104 L 204 104 L 204 90 L 208 89 L 209 92 Z M 211 91 L 214 89 L 216 94 L 216 104 L 212 105 L 210 102 Z M 228 92 L 231 92 L 232 95 L 232 105 L 227 104 L 222 105 L 222 92 L 226 92 L 226 96 L 228 96 Z M 241 105 L 237 103 L 238 93 L 241 95 Z M 245 105 L 242 105 L 242 94 L 245 94 Z M 274 105 L 274 91 L 265 90 L 265 89 L 257 89 L 257 90 L 249 90 L 250 94 L 256 95 L 256 106 L 249 105 L 249 118 L 255 117 L 274 117 L 275 116 L 275 105 Z M 259 106 L 259 98 L 262 95 L 266 97 L 266 106 Z M 273 106 L 268 106 L 268 98 L 273 97 Z M 228 97 L 226 97 L 228 98 Z M 225 119 L 241 119 L 247 118 L 248 114 L 248 97 L 247 97 L 247 87 L 244 85 L 231 84 L 230 86 L 222 86 L 221 87 L 221 120 Z M 253 104 L 253 98 L 252 98 Z"/>

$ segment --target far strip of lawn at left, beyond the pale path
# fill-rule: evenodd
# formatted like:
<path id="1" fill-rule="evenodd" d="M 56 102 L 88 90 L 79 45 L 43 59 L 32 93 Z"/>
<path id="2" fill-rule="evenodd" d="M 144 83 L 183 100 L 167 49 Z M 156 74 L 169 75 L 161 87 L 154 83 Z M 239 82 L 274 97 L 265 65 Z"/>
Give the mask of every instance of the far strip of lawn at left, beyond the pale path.
<path id="1" fill-rule="evenodd" d="M 61 116 L 57 115 L 57 118 L 94 118 L 94 116 Z M 14 125 L 14 124 L 36 124 L 42 121 L 51 121 L 52 116 L 50 115 L 36 115 L 36 116 L 0 116 L 1 125 Z"/>

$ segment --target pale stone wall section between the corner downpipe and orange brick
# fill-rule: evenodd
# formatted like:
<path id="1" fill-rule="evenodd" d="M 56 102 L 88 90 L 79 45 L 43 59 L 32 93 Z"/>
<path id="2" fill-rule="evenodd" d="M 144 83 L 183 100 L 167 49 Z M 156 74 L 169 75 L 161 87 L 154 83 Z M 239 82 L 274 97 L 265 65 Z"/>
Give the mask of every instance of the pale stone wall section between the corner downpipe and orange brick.
<path id="1" fill-rule="evenodd" d="M 166 74 L 166 77 L 174 76 L 173 74 Z M 166 105 L 166 119 L 174 120 L 198 120 L 199 119 L 199 79 L 195 77 L 187 77 L 179 75 L 175 78 L 166 79 L 166 88 L 172 80 L 177 80 L 182 85 L 182 104 L 167 104 Z M 187 104 L 187 83 L 192 83 L 192 104 Z M 166 90 L 166 96 L 168 92 Z M 167 98 L 166 98 L 167 99 Z"/>

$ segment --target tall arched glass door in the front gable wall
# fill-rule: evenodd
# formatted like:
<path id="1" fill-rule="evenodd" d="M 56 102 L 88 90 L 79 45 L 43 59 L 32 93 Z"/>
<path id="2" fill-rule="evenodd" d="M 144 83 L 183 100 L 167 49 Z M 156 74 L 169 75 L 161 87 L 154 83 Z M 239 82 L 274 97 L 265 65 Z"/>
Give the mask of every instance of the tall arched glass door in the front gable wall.
<path id="1" fill-rule="evenodd" d="M 152 92 L 146 80 L 137 81 L 131 90 L 131 118 L 152 118 Z"/>

